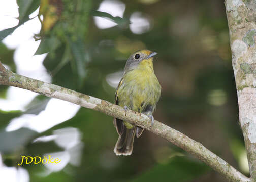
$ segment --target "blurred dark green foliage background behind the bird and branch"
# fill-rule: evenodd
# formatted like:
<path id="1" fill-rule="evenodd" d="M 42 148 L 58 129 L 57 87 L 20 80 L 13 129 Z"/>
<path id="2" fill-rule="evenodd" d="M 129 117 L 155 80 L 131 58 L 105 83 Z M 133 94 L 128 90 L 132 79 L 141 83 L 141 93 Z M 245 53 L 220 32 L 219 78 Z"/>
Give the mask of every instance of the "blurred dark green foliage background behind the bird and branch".
<path id="1" fill-rule="evenodd" d="M 115 89 L 107 83 L 106 76 L 123 70 L 127 57 L 134 51 L 144 48 L 156 51 L 154 68 L 162 85 L 162 96 L 154 117 L 241 169 L 238 161 L 243 152 L 243 137 L 238 125 L 223 2 L 123 1 L 123 18 L 97 11 L 101 3 L 102 0 L 17 0 L 19 24 L 0 31 L 0 39 L 28 21 L 28 15 L 41 5 L 42 29 L 35 35 L 41 42 L 35 54 L 49 52 L 43 64 L 52 76 L 52 83 L 108 101 L 114 100 Z M 149 31 L 143 34 L 131 31 L 129 17 L 134 12 L 149 17 Z M 93 16 L 118 25 L 99 29 Z M 0 60 L 15 71 L 13 53 L 14 50 L 0 43 Z M 6 97 L 7 88 L 0 85 L 1 98 Z M 11 119 L 21 114 L 38 114 L 48 101 L 37 96 L 24 112 L 0 112 L 0 150 L 5 151 L 5 164 L 15 166 L 22 155 L 63 151 L 53 141 L 32 141 L 66 127 L 78 128 L 82 133 L 81 164 L 68 164 L 49 175 L 38 175 L 45 170 L 41 165 L 24 165 L 30 181 L 226 181 L 197 159 L 147 131 L 135 139 L 132 156 L 115 156 L 117 133 L 112 118 L 85 108 L 43 133 L 22 128 L 5 131 Z M 11 145 L 5 145 L 6 141 Z M 178 157 L 177 153 L 186 157 Z"/>

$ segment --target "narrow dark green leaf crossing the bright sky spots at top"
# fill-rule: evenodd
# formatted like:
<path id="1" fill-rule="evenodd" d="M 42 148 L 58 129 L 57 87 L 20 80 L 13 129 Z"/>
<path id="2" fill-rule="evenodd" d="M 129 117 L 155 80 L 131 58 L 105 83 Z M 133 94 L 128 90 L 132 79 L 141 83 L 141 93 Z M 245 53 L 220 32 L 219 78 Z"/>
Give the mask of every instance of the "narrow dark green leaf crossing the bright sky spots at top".
<path id="1" fill-rule="evenodd" d="M 92 11 L 91 12 L 92 16 L 98 16 L 98 17 L 102 17 L 105 18 L 107 20 L 110 20 L 114 23 L 117 23 L 120 27 L 127 27 L 129 24 L 131 24 L 130 20 L 126 19 L 126 18 L 121 18 L 119 16 L 112 16 L 109 13 L 106 12 L 101 12 L 101 11 Z"/>

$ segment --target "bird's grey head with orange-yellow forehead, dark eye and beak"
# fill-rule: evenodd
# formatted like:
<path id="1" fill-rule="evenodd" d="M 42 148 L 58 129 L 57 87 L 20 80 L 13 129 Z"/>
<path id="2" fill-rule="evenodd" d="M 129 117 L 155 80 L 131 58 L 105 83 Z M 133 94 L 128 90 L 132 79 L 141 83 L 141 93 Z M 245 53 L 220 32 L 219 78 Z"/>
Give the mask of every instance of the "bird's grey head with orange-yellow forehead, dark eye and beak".
<path id="1" fill-rule="evenodd" d="M 124 73 L 135 69 L 142 60 L 152 58 L 157 53 L 149 50 L 140 50 L 133 53 L 126 61 Z"/>

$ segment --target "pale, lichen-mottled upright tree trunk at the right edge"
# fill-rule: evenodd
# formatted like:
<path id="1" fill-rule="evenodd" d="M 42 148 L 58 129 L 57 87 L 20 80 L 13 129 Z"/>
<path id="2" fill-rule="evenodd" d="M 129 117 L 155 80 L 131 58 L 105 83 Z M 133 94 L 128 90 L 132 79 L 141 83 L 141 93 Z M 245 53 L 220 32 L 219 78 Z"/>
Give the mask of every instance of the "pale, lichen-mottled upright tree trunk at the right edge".
<path id="1" fill-rule="evenodd" d="M 226 0 L 239 123 L 250 176 L 256 181 L 256 1 Z"/>

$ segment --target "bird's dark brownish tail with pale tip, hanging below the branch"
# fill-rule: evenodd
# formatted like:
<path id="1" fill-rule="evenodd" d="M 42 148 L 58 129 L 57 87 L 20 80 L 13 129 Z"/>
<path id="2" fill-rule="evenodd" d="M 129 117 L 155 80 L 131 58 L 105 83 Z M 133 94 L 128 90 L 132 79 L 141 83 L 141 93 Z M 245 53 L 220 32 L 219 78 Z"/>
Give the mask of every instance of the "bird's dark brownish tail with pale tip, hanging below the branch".
<path id="1" fill-rule="evenodd" d="M 133 152 L 133 142 L 135 136 L 135 128 L 127 129 L 123 127 L 123 132 L 119 135 L 116 142 L 114 152 L 116 155 L 131 155 Z"/>

